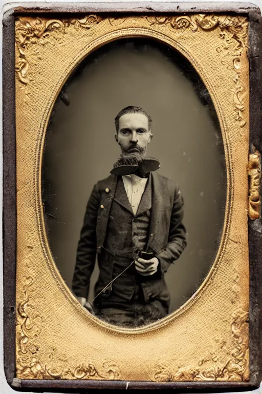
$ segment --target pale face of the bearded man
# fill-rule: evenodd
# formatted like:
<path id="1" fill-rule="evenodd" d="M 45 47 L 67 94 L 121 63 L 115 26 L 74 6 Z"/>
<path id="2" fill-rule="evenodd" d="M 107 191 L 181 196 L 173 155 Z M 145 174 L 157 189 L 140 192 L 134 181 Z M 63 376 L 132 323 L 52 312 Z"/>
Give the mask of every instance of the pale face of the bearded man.
<path id="1" fill-rule="evenodd" d="M 115 135 L 122 153 L 146 153 L 151 141 L 147 116 L 142 113 L 126 113 L 119 119 L 118 132 Z"/>

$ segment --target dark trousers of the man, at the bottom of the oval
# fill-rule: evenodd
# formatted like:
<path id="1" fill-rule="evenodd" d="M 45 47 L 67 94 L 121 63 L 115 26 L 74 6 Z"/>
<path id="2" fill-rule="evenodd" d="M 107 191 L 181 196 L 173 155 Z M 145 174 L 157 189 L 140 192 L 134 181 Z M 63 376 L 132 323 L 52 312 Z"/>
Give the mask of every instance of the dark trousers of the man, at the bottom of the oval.
<path id="1" fill-rule="evenodd" d="M 103 264 L 100 271 L 104 267 L 108 272 L 112 269 L 112 278 L 116 278 L 133 260 L 116 255 L 113 258 L 112 254 L 103 251 L 101 259 Z M 111 269 L 106 262 L 112 264 Z M 110 280 L 111 278 L 108 277 L 107 283 Z M 111 289 L 107 288 L 97 297 L 94 302 L 96 316 L 107 323 L 123 327 L 139 327 L 164 318 L 168 314 L 168 307 L 157 299 L 145 301 L 141 280 L 144 278 L 136 271 L 135 264 L 131 265 L 112 284 Z M 100 287 L 103 286 L 104 283 L 97 288 L 97 291 L 99 292 Z"/>

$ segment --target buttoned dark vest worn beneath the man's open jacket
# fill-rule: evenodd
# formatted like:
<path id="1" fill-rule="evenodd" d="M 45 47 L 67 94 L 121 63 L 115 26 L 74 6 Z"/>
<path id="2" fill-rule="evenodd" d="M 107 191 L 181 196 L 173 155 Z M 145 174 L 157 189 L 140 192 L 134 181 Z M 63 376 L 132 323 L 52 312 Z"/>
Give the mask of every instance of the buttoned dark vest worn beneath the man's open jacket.
<path id="1" fill-rule="evenodd" d="M 136 215 L 128 201 L 124 183 L 118 178 L 114 200 L 107 223 L 104 247 L 110 254 L 111 278 L 114 279 L 130 262 L 138 258 L 140 250 L 145 250 L 148 241 L 150 211 L 151 211 L 151 178 L 149 177 Z M 106 277 L 108 277 L 108 266 Z M 103 264 L 100 267 L 103 275 Z M 112 285 L 111 297 L 114 294 L 130 300 L 138 290 L 138 274 L 135 264 L 128 268 Z M 101 278 L 102 279 L 102 278 Z"/>

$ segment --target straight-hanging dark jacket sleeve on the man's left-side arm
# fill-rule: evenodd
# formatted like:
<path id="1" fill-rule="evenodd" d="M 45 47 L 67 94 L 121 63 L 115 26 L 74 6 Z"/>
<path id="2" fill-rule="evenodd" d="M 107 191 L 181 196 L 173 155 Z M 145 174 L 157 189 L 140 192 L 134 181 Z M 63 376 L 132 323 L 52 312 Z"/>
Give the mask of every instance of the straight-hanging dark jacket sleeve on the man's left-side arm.
<path id="1" fill-rule="evenodd" d="M 77 297 L 88 298 L 90 277 L 95 267 L 97 240 L 96 225 L 99 207 L 98 186 L 95 185 L 86 205 L 83 226 L 76 253 L 72 290 Z"/>

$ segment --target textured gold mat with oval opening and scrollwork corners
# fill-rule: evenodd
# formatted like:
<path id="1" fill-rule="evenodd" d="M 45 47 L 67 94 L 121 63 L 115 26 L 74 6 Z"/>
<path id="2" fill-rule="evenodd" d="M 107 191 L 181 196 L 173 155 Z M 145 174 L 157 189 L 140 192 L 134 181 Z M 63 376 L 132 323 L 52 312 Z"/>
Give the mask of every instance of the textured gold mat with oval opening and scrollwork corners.
<path id="1" fill-rule="evenodd" d="M 15 29 L 17 377 L 248 380 L 247 19 L 23 16 Z M 130 36 L 166 43 L 198 71 L 219 117 L 227 165 L 224 229 L 207 278 L 179 310 L 137 329 L 108 325 L 74 299 L 49 249 L 40 193 L 45 132 L 61 87 L 86 55 Z"/>

